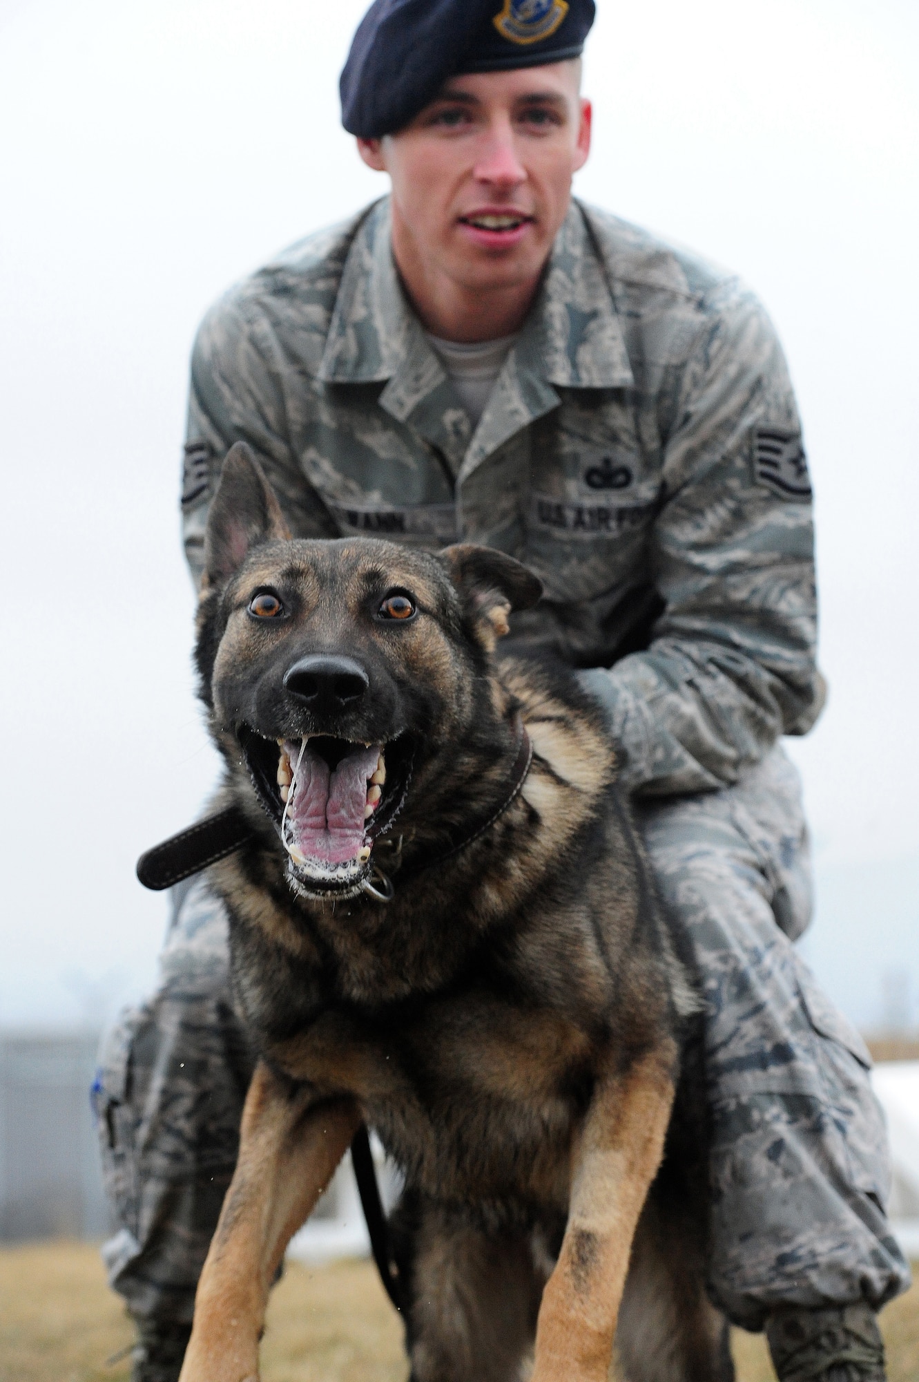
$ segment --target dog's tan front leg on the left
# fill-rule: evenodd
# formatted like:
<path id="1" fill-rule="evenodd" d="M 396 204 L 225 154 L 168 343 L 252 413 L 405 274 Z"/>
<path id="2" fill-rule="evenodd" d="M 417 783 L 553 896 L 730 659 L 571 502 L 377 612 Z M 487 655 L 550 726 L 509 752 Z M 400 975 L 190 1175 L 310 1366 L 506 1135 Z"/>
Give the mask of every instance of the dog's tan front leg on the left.
<path id="1" fill-rule="evenodd" d="M 315 1090 L 255 1067 L 179 1382 L 255 1382 L 275 1273 L 359 1125 L 352 1100 L 316 1104 Z"/>

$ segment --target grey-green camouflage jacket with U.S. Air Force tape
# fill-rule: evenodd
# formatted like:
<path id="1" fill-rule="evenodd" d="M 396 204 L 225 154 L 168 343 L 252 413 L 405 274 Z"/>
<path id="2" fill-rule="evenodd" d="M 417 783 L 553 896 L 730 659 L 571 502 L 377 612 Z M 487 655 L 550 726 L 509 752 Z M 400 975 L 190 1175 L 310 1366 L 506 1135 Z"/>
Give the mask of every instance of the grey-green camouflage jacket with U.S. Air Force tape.
<path id="1" fill-rule="evenodd" d="M 475 431 L 393 265 L 389 203 L 295 245 L 206 316 L 184 514 L 200 575 L 222 456 L 295 535 L 479 542 L 544 580 L 515 637 L 604 684 L 644 793 L 735 781 L 822 701 L 810 484 L 756 299 L 571 205 Z"/>

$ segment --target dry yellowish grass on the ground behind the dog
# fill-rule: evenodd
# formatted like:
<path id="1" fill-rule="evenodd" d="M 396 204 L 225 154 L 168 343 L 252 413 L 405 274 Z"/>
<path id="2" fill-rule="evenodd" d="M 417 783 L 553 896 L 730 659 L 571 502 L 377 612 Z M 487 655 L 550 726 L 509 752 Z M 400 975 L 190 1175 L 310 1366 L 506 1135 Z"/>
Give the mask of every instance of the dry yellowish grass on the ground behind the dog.
<path id="1" fill-rule="evenodd" d="M 919 1287 L 889 1306 L 882 1324 L 890 1382 L 915 1382 Z M 127 1382 L 130 1343 L 95 1248 L 0 1251 L 0 1382 Z M 734 1354 L 738 1382 L 774 1378 L 762 1339 L 738 1334 Z M 262 1382 L 403 1382 L 402 1329 L 373 1265 L 290 1263 L 272 1296 L 262 1359 Z"/>

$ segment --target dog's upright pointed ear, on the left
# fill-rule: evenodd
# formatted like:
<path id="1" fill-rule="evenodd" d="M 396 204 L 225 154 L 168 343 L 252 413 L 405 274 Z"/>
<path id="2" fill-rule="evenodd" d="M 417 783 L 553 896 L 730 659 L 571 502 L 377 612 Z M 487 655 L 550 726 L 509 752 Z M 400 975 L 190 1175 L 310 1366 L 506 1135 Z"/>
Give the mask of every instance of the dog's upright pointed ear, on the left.
<path id="1" fill-rule="evenodd" d="M 206 587 L 221 586 L 241 567 L 250 547 L 290 538 L 280 504 L 244 441 L 230 446 L 204 529 Z"/>

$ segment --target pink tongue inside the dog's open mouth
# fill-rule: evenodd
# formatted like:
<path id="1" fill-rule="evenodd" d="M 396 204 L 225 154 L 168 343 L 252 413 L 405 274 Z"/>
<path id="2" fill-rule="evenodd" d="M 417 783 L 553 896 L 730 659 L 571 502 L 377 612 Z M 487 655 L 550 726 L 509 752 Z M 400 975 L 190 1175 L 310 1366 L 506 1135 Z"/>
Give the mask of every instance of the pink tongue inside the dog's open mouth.
<path id="1" fill-rule="evenodd" d="M 284 748 L 295 766 L 299 744 L 287 742 Z M 287 813 L 301 854 L 324 864 L 344 864 L 356 857 L 364 843 L 367 781 L 378 759 L 378 745 L 359 748 L 330 773 L 326 760 L 306 744 Z"/>

